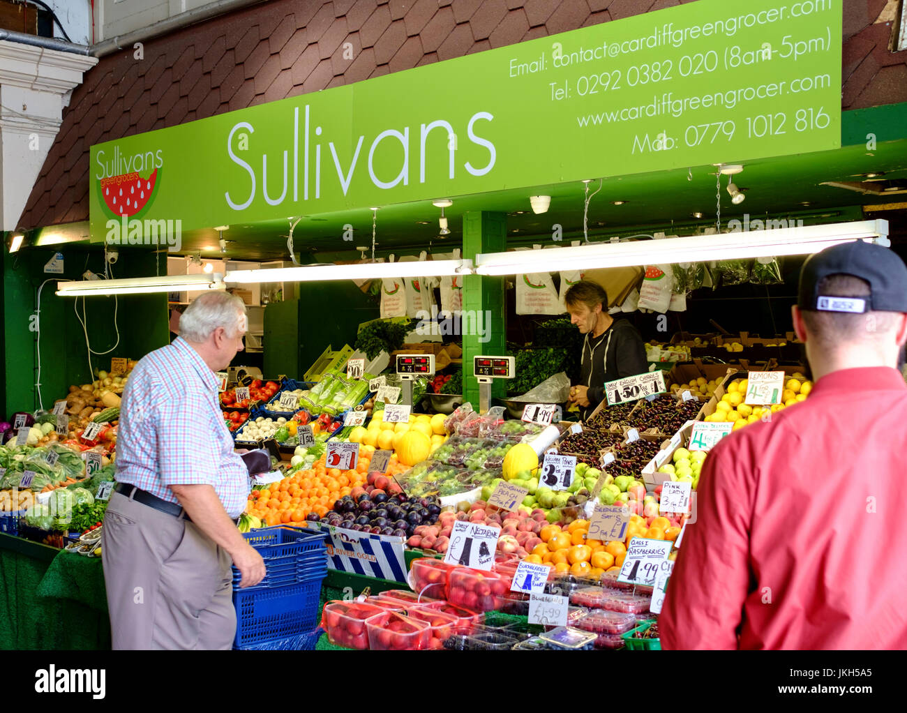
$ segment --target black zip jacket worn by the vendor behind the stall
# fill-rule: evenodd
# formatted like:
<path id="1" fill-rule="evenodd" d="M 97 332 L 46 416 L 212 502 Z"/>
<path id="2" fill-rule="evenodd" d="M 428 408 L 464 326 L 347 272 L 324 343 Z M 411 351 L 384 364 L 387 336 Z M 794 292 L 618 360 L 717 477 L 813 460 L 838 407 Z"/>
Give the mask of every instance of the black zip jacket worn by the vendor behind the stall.
<path id="1" fill-rule="evenodd" d="M 615 319 L 599 337 L 587 334 L 582 343 L 580 386 L 589 386 L 589 406 L 580 408 L 583 420 L 605 397 L 605 384 L 649 371 L 646 347 L 628 319 Z"/>

